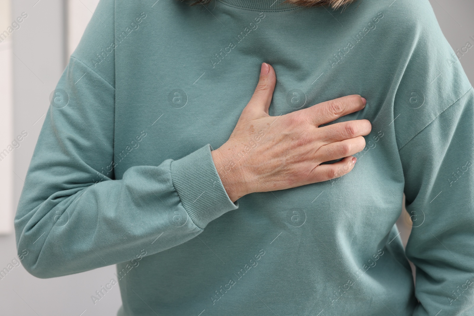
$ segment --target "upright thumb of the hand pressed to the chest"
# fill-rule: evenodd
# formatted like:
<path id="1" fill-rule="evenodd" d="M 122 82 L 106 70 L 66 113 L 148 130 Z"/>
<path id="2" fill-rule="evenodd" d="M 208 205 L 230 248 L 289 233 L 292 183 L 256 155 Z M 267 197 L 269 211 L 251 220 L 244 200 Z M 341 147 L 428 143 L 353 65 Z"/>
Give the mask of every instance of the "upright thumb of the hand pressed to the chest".
<path id="1" fill-rule="evenodd" d="M 260 79 L 258 80 L 255 92 L 248 102 L 247 111 L 255 114 L 265 113 L 268 115 L 268 108 L 272 102 L 273 91 L 275 90 L 276 76 L 273 67 L 268 63 L 262 63 L 260 69 Z"/>

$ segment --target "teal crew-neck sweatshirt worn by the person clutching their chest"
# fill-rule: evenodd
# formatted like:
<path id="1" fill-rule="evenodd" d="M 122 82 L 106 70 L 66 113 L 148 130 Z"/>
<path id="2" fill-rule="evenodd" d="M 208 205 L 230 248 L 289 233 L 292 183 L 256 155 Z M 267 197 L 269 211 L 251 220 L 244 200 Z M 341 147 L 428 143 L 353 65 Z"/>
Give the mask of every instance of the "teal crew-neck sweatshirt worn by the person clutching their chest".
<path id="1" fill-rule="evenodd" d="M 101 0 L 27 172 L 22 263 L 38 278 L 117 264 L 91 308 L 118 283 L 118 316 L 474 315 L 464 53 L 428 0 Z M 277 75 L 271 116 L 360 94 L 367 106 L 336 122 L 372 132 L 347 175 L 233 203 L 211 150 L 262 62 Z"/>

